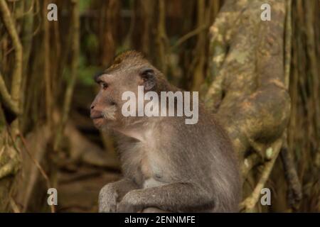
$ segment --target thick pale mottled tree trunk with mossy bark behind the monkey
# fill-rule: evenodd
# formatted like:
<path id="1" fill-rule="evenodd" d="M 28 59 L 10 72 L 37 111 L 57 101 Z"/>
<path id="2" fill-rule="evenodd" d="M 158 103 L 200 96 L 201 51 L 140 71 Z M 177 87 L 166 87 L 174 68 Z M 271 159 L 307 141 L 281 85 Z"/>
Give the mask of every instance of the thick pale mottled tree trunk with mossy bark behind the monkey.
<path id="1" fill-rule="evenodd" d="M 260 18 L 265 3 L 271 6 L 270 21 Z M 245 211 L 255 207 L 277 154 L 286 144 L 290 114 L 284 58 L 288 4 L 291 2 L 285 0 L 225 1 L 210 28 L 210 77 L 204 100 L 228 131 L 244 180 L 251 177 L 257 183 L 252 193 L 244 195 Z M 262 165 L 260 176 L 250 172 L 256 165 Z"/>

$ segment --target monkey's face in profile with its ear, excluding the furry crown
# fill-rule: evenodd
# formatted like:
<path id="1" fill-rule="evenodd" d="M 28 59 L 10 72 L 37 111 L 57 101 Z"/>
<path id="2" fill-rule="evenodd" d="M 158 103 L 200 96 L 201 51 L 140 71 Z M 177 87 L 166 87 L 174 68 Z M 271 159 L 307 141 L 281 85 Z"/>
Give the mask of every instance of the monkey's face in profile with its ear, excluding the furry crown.
<path id="1" fill-rule="evenodd" d="M 95 80 L 100 85 L 100 91 L 90 106 L 90 117 L 95 126 L 102 130 L 121 129 L 137 121 L 138 117 L 124 116 L 122 113 L 122 106 L 127 101 L 122 100 L 122 96 L 130 92 L 137 97 L 138 86 L 144 86 L 145 90 L 154 87 L 154 70 L 148 64 L 122 62 L 115 69 L 112 66 L 111 70 L 109 68 L 99 74 Z"/>

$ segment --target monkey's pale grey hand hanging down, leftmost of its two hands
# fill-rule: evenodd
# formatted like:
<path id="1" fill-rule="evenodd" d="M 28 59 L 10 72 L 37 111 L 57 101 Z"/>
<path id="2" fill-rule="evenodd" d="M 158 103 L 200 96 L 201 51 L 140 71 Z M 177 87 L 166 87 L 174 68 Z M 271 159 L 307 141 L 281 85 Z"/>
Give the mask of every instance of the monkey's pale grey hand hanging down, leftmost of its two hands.
<path id="1" fill-rule="evenodd" d="M 99 194 L 99 212 L 110 213 L 117 211 L 117 191 L 114 189 L 112 183 L 102 187 Z"/>

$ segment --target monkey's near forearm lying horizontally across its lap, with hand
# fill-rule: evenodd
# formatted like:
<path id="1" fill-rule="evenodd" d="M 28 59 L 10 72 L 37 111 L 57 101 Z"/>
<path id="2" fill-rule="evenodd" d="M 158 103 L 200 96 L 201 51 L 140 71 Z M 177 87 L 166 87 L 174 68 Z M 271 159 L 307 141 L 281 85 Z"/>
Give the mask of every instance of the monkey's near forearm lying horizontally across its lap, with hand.
<path id="1" fill-rule="evenodd" d="M 137 212 L 147 207 L 174 212 L 200 211 L 213 209 L 213 200 L 213 194 L 196 184 L 174 183 L 128 192 L 117 204 L 117 212 Z"/>

